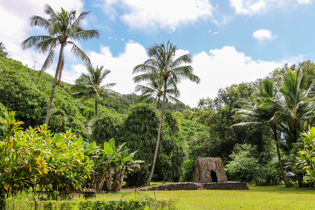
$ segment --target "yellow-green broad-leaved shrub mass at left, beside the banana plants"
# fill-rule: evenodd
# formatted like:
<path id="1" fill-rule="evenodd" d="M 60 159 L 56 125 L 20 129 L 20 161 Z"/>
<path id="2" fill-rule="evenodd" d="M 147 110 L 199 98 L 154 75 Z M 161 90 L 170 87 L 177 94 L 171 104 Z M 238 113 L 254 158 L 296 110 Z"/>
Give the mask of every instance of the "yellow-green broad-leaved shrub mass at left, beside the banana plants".
<path id="1" fill-rule="evenodd" d="M 93 161 L 84 155 L 82 139 L 71 130 L 54 136 L 47 125 L 20 128 L 13 111 L 6 111 L 0 124 L 0 198 L 23 189 L 73 191 L 93 171 Z"/>

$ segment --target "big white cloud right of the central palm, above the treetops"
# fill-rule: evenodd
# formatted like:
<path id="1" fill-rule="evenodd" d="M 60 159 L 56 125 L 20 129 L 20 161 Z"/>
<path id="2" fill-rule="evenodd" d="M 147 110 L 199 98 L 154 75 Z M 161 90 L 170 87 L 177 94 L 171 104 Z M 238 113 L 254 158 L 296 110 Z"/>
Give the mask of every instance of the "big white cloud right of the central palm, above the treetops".
<path id="1" fill-rule="evenodd" d="M 285 62 L 292 64 L 301 60 L 302 56 L 281 61 L 253 60 L 232 46 L 213 49 L 209 53 L 203 51 L 193 56 L 192 63 L 194 74 L 201 78 L 201 83 L 198 85 L 183 81 L 178 85 L 182 93 L 181 100 L 196 106 L 200 98 L 214 98 L 220 88 L 240 82 L 254 82 Z"/>

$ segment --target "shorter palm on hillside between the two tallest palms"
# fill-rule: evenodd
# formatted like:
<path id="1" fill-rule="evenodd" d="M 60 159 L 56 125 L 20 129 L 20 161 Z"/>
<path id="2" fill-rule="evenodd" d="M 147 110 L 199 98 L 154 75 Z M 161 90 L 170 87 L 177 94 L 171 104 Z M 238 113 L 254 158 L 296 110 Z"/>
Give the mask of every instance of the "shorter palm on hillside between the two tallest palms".
<path id="1" fill-rule="evenodd" d="M 109 89 L 116 85 L 116 83 L 109 83 L 102 85 L 102 82 L 106 76 L 111 72 L 108 69 L 103 71 L 104 66 L 100 68 L 93 68 L 90 66 L 88 68 L 88 73 L 82 73 L 79 79 L 77 79 L 77 84 L 74 85 L 71 90 L 73 94 L 71 95 L 75 99 L 81 99 L 79 103 L 83 103 L 89 99 L 95 100 L 95 116 L 97 116 L 97 105 L 102 101 L 113 101 L 119 103 L 115 98 L 119 93 Z"/>

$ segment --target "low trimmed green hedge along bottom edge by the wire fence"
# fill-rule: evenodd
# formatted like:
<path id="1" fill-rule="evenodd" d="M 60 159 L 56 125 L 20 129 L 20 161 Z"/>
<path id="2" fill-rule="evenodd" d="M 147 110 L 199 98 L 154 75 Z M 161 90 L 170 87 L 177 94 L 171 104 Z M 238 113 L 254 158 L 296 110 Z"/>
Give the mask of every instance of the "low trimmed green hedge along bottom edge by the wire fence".
<path id="1" fill-rule="evenodd" d="M 146 201 L 137 199 L 129 200 L 109 200 L 109 201 L 92 201 L 82 200 L 79 204 L 79 210 L 144 210 Z"/>

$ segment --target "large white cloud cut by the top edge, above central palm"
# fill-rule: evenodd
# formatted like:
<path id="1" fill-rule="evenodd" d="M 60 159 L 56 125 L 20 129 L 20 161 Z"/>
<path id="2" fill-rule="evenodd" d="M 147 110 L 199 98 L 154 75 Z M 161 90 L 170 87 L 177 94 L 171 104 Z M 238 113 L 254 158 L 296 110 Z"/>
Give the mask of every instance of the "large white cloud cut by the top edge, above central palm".
<path id="1" fill-rule="evenodd" d="M 162 29 L 170 33 L 182 25 L 211 18 L 214 10 L 209 0 L 103 0 L 101 7 L 112 19 L 118 15 L 117 10 L 123 10 L 119 18 L 131 30 Z"/>

